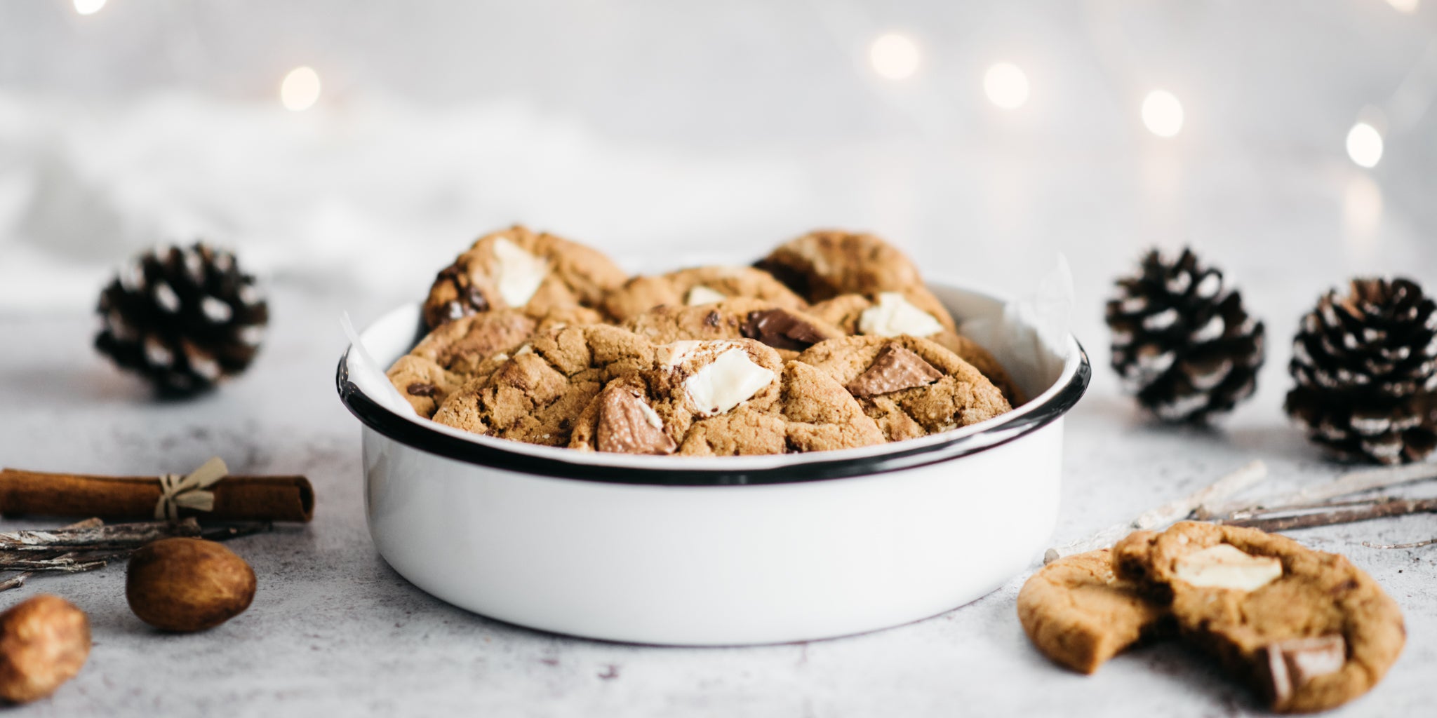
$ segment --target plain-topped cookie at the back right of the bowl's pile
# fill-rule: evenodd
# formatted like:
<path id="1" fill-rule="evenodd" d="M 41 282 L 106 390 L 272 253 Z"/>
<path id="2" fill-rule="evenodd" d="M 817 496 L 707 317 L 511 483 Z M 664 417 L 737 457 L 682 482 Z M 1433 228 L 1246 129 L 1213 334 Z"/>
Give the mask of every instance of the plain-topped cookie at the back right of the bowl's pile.
<path id="1" fill-rule="evenodd" d="M 780 244 L 754 267 L 809 302 L 923 289 L 918 267 L 904 253 L 864 233 L 812 231 Z"/>

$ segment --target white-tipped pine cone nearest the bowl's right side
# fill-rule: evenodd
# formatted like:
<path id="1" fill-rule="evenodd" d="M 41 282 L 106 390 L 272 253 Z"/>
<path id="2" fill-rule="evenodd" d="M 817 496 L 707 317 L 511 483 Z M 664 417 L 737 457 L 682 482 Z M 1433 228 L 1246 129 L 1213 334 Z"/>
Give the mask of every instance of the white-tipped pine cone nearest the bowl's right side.
<path id="1" fill-rule="evenodd" d="M 1142 271 L 1118 280 L 1108 302 L 1112 368 L 1138 404 L 1164 421 L 1206 422 L 1256 388 L 1263 326 L 1247 316 L 1223 273 L 1191 250 L 1165 263 L 1157 250 Z"/>

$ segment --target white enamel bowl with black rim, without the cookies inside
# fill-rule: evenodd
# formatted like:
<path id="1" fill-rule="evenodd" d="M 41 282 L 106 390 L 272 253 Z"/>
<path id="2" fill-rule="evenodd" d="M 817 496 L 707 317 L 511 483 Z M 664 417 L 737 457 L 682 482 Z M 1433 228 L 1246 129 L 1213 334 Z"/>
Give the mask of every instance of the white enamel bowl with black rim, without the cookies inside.
<path id="1" fill-rule="evenodd" d="M 1002 314 L 993 297 L 931 289 L 963 320 Z M 399 307 L 364 345 L 388 366 L 418 323 L 418 306 Z M 1078 342 L 1029 342 L 1038 356 L 993 346 L 1033 396 L 1013 412 L 775 457 L 589 454 L 466 434 L 387 409 L 382 386 L 356 378 L 354 348 L 338 383 L 364 424 L 369 534 L 420 589 L 575 636 L 777 643 L 934 616 L 1030 564 L 1058 518 L 1062 416 L 1091 375 Z"/>

